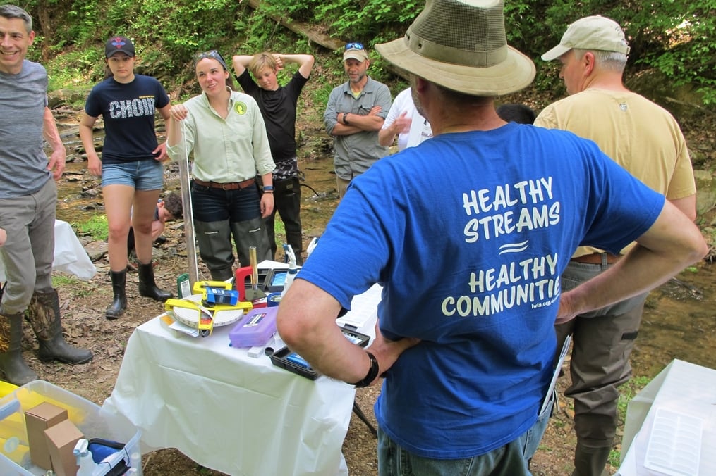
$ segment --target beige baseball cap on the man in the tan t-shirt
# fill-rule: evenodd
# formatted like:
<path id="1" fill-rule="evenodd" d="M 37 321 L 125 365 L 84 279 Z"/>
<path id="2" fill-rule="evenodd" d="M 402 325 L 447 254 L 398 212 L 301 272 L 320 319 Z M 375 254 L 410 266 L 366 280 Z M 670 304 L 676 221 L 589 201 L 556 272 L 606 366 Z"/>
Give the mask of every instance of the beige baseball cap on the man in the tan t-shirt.
<path id="1" fill-rule="evenodd" d="M 574 48 L 629 54 L 629 44 L 621 26 L 600 15 L 585 16 L 569 25 L 559 44 L 543 54 L 542 59 L 552 61 Z"/>

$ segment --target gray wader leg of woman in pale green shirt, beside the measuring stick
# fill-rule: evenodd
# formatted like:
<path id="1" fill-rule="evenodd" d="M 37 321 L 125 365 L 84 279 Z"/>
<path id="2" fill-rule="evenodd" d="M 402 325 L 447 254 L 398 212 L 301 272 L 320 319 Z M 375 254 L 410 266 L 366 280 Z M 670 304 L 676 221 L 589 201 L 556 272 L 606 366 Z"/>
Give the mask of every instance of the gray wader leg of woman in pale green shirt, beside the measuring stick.
<path id="1" fill-rule="evenodd" d="M 199 222 L 194 220 L 196 242 L 199 254 L 211 273 L 214 281 L 226 281 L 233 276 L 233 247 L 231 245 L 231 225 L 228 220 L 218 222 Z M 248 253 L 248 248 L 246 249 Z"/>

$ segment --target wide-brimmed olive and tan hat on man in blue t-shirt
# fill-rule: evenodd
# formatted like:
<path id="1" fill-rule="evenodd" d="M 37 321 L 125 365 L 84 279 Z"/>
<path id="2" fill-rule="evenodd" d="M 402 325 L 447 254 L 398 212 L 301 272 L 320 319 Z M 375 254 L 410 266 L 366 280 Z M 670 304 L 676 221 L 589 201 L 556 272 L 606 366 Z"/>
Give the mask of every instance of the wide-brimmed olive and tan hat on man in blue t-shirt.
<path id="1" fill-rule="evenodd" d="M 404 37 L 375 49 L 400 69 L 473 96 L 519 91 L 536 74 L 507 45 L 503 0 L 427 0 Z"/>

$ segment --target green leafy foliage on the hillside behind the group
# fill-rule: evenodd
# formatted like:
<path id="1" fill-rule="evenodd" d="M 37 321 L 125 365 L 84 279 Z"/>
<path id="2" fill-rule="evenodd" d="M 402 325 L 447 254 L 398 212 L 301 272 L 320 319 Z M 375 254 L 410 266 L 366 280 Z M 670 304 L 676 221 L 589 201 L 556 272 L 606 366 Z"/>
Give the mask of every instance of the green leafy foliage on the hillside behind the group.
<path id="1" fill-rule="evenodd" d="M 277 18 L 303 21 L 334 38 L 362 41 L 372 49 L 405 34 L 424 5 L 424 0 L 261 0 L 254 11 L 248 1 L 232 0 L 177 0 L 170 5 L 163 0 L 26 0 L 24 4 L 36 21 L 36 43 L 42 44 L 31 49 L 30 57 L 44 56 L 47 63 L 55 55 L 69 54 L 69 59 L 51 65 L 53 87 L 100 79 L 105 39 L 124 34 L 135 39 L 142 72 L 160 78 L 169 89 L 191 79 L 191 56 L 197 51 L 218 49 L 231 56 L 237 51 L 315 48 L 305 39 L 297 40 Z M 508 1 L 508 43 L 536 60 L 538 89 L 556 91 L 561 83 L 539 56 L 557 44 L 571 21 L 592 14 L 616 20 L 627 32 L 632 46 L 627 74 L 659 69 L 674 86 L 693 85 L 704 104 L 716 103 L 716 0 Z M 42 24 L 48 18 L 49 27 Z M 374 60 L 372 76 L 389 77 L 377 55 Z M 339 71 L 340 62 L 326 67 Z"/>

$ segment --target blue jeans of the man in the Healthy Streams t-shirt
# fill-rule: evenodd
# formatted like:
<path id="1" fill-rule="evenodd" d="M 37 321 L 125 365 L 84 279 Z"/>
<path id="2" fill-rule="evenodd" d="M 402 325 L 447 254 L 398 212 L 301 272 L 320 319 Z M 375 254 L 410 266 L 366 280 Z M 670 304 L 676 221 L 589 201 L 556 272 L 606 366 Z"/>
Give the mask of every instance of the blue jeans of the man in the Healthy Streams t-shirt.
<path id="1" fill-rule="evenodd" d="M 378 428 L 379 476 L 526 476 L 530 475 L 523 447 L 527 432 L 484 455 L 459 460 L 435 460 L 414 455 Z"/>

